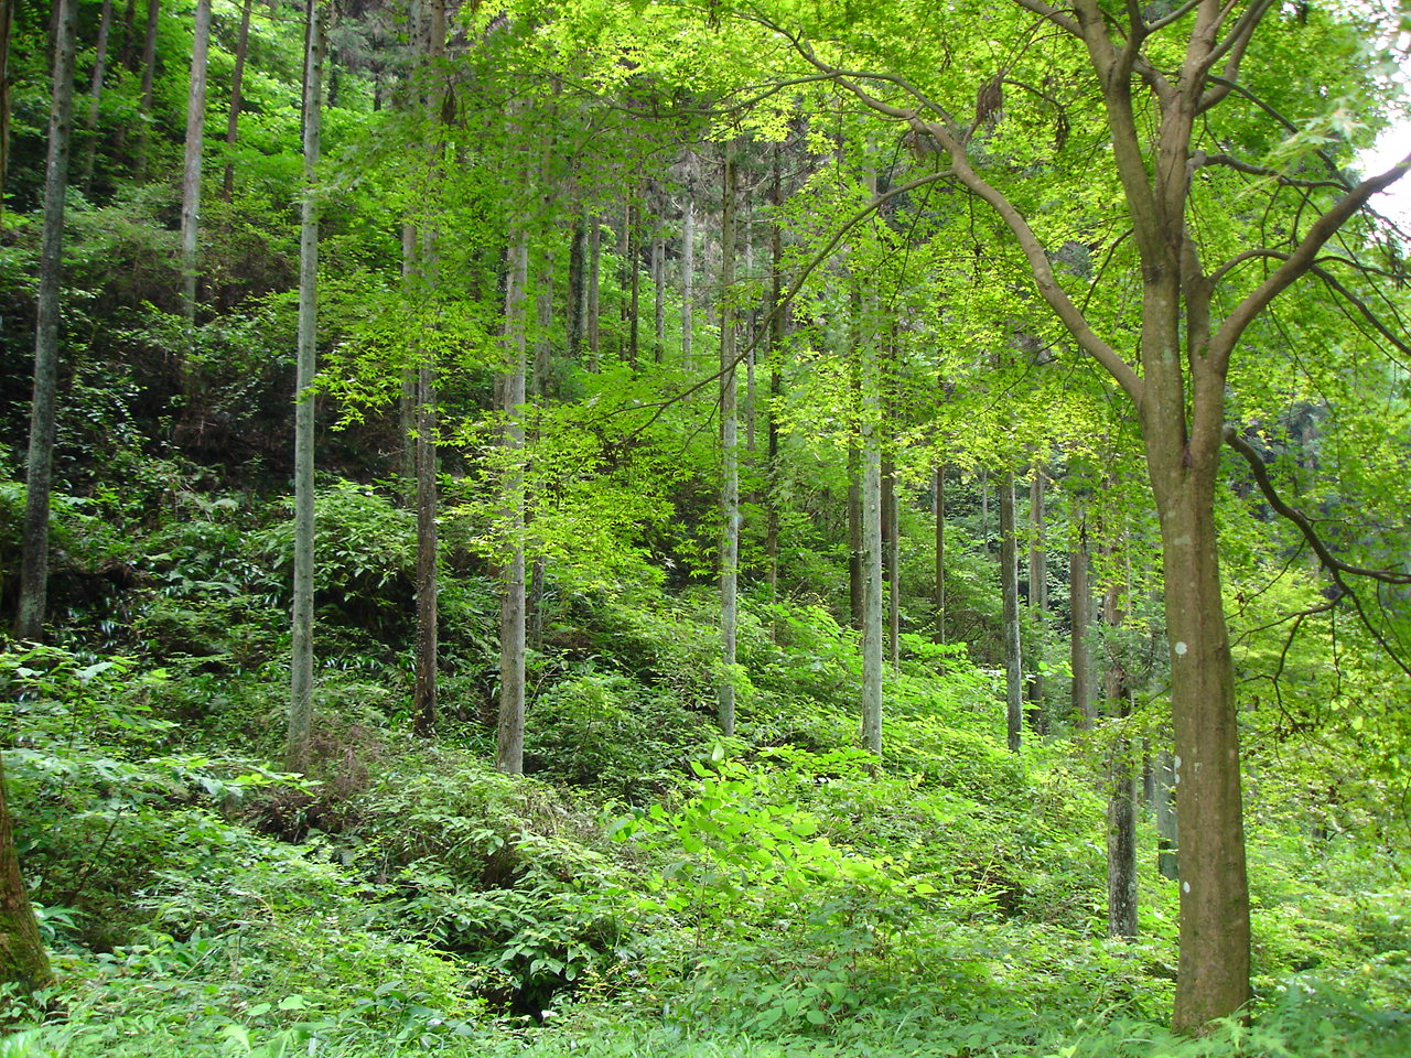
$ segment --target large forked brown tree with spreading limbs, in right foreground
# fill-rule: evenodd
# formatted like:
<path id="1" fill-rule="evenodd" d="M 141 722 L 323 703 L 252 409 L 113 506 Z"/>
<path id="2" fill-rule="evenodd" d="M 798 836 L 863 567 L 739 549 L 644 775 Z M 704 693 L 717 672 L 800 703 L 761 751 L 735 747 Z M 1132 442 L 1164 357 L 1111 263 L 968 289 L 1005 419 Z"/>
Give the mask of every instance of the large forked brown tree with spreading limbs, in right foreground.
<path id="1" fill-rule="evenodd" d="M 1173 1021 L 1180 1030 L 1198 1031 L 1239 1010 L 1250 995 L 1239 729 L 1215 523 L 1230 364 L 1250 324 L 1318 265 L 1321 250 L 1374 193 L 1411 168 L 1411 155 L 1387 172 L 1348 181 L 1336 165 L 1325 165 L 1326 151 L 1319 155 L 1325 140 L 1312 134 L 1300 138 L 1295 126 L 1290 151 L 1298 162 L 1326 174 L 1309 181 L 1291 174 L 1287 158 L 1278 159 L 1280 165 L 1260 165 L 1223 148 L 1232 141 L 1249 141 L 1249 130 L 1270 121 L 1263 109 L 1267 104 L 1242 83 L 1252 56 L 1261 55 L 1263 42 L 1280 32 L 1307 31 L 1300 24 L 1278 25 L 1285 18 L 1284 7 L 1273 0 L 1189 0 L 1150 16 L 1151 8 L 1136 3 L 1120 13 L 1106 7 L 1099 0 L 1013 0 L 1009 10 L 1022 17 L 1005 25 L 1003 13 L 988 4 L 983 14 L 976 7 L 969 18 L 952 11 L 948 24 L 983 24 L 988 39 L 1009 34 L 1019 47 L 1017 41 L 1033 37 L 1037 18 L 1071 42 L 1061 62 L 1081 63 L 1085 82 L 1099 93 L 1112 147 L 1110 169 L 1103 175 L 1119 188 L 1136 258 L 1132 274 L 1141 289 L 1134 361 L 1119 351 L 1116 334 L 1099 334 L 1102 319 L 1070 293 L 1071 276 L 1055 269 L 1055 247 L 1046 245 L 1033 223 L 1037 205 L 1020 197 L 1022 188 L 993 157 L 972 157 L 974 134 L 982 123 L 962 120 L 959 107 L 941 97 L 940 86 L 923 87 L 907 76 L 912 71 L 904 65 L 852 69 L 845 52 L 820 54 L 801 28 L 785 25 L 783 18 L 770 25 L 787 34 L 817 73 L 852 92 L 879 116 L 903 124 L 917 142 L 934 145 L 948 159 L 957 185 L 1003 220 L 1038 295 L 1071 340 L 1112 377 L 1137 411 L 1161 525 L 1180 774 L 1181 954 Z M 902 25 L 904 17 L 886 7 L 869 11 L 847 32 L 895 34 Z M 828 32 L 841 35 L 837 24 Z M 872 45 L 869 51 L 878 54 Z M 1343 71 L 1340 76 L 1353 73 Z M 1017 73 L 1000 71 L 996 87 L 1006 76 Z M 969 99 L 975 99 L 974 87 L 969 90 Z M 1373 110 L 1373 86 L 1355 85 L 1349 90 L 1360 92 L 1357 104 Z M 978 97 L 986 96 L 982 92 Z M 1253 106 L 1247 113 L 1229 114 L 1232 99 Z M 1053 120 L 1051 111 L 1044 120 Z M 1040 150 L 1062 155 L 1068 140 L 1061 131 L 1053 147 Z M 1266 178 L 1270 193 L 1287 190 L 1304 200 L 1300 209 L 1308 223 L 1270 230 L 1235 219 L 1240 231 L 1235 240 L 1229 238 L 1230 227 L 1187 223 L 1197 207 L 1206 216 L 1230 216 L 1228 200 L 1235 188 L 1222 178 L 1250 171 Z M 1202 179 L 1192 181 L 1192 174 Z M 1335 200 L 1328 202 L 1329 193 Z M 1250 262 L 1268 267 L 1246 279 Z"/>

